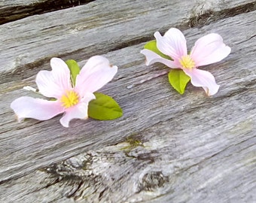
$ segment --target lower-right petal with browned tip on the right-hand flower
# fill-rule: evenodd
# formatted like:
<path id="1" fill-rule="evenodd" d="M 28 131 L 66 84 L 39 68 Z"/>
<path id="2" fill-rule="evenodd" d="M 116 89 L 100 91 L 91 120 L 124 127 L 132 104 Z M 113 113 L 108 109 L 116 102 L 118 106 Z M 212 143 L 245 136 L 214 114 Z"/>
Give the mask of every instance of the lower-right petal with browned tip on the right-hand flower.
<path id="1" fill-rule="evenodd" d="M 214 95 L 218 92 L 220 86 L 215 82 L 215 77 L 209 71 L 197 68 L 192 70 L 183 69 L 183 71 L 191 78 L 191 83 L 194 86 L 202 86 L 207 95 Z"/>

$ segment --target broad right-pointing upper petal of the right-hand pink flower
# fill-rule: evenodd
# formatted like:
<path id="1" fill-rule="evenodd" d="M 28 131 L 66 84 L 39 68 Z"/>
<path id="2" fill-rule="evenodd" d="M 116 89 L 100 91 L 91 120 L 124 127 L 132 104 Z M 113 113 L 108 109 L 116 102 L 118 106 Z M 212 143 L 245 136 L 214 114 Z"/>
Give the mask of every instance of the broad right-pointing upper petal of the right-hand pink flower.
<path id="1" fill-rule="evenodd" d="M 199 38 L 191 50 L 190 56 L 196 66 L 219 62 L 230 54 L 230 47 L 223 43 L 221 35 L 212 33 Z"/>

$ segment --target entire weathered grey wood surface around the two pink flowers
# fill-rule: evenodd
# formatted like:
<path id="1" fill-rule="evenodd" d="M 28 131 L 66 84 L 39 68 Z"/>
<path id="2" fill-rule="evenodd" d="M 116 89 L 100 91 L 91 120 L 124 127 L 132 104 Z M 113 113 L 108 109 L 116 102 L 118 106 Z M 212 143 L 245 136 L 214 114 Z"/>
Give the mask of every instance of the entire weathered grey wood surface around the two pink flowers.
<path id="1" fill-rule="evenodd" d="M 255 5 L 108 1 L 107 11 L 95 1 L 0 26 L 1 202 L 255 202 Z M 127 89 L 166 70 L 146 67 L 139 51 L 171 26 L 188 47 L 209 32 L 230 45 L 227 59 L 205 67 L 221 85 L 214 97 L 191 85 L 178 95 L 166 75 Z M 119 67 L 101 92 L 123 117 L 69 129 L 59 117 L 16 123 L 10 103 L 30 94 L 21 87 L 35 86 L 50 57 L 82 65 L 94 54 Z"/>

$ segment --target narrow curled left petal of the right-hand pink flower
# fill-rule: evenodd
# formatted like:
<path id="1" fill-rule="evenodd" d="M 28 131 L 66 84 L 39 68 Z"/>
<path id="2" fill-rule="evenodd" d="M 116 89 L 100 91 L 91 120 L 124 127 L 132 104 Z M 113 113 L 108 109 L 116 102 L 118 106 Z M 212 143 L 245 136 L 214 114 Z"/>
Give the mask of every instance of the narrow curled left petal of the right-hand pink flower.
<path id="1" fill-rule="evenodd" d="M 178 66 L 175 65 L 175 62 L 164 59 L 162 56 L 159 56 L 157 53 L 154 53 L 151 50 L 141 50 L 141 53 L 144 54 L 146 57 L 146 65 L 151 65 L 154 62 L 161 62 L 164 65 L 167 65 L 169 68 L 178 68 Z"/>

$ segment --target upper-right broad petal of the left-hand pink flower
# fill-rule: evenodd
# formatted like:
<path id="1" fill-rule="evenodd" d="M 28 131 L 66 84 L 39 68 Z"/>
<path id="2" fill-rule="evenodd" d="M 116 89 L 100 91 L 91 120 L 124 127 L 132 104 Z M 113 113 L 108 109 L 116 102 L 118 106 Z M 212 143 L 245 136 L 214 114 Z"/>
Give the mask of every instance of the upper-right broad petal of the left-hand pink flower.
<path id="1" fill-rule="evenodd" d="M 95 92 L 108 83 L 117 73 L 117 66 L 110 65 L 103 56 L 93 56 L 81 69 L 75 89 L 83 97 L 85 92 Z"/>

